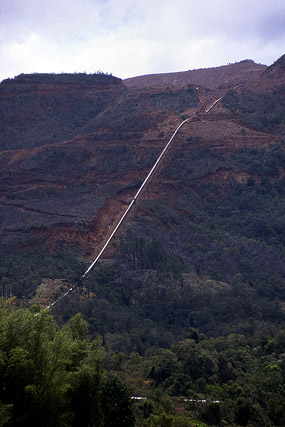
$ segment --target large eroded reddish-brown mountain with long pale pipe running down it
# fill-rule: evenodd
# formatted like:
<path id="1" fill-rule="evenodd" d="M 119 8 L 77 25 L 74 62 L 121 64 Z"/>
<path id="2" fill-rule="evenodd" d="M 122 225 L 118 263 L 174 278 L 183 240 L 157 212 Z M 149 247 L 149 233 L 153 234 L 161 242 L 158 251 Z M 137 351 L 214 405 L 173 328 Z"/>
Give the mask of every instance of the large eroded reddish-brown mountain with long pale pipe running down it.
<path id="1" fill-rule="evenodd" d="M 253 292 L 248 308 L 253 318 L 279 321 L 285 277 L 283 62 L 281 57 L 265 70 L 251 61 L 229 65 L 234 86 L 225 87 L 221 77 L 215 85 L 221 81 L 224 85 L 215 89 L 204 88 L 201 82 L 127 87 L 105 74 L 32 74 L 4 80 L 0 85 L 4 283 L 13 284 L 19 297 L 31 298 L 40 277 L 78 280 L 176 127 L 188 117 L 160 173 L 105 254 L 133 271 L 128 280 L 146 287 L 142 302 L 139 294 L 134 296 L 135 288 L 126 291 L 118 285 L 122 294 L 116 301 L 123 301 L 126 310 L 138 300 L 144 305 L 150 295 L 147 283 L 158 280 L 146 274 L 153 270 L 166 275 L 165 292 L 168 275 L 175 281 L 182 277 L 190 290 L 198 278 L 205 290 L 213 286 L 219 292 L 233 292 L 236 286 L 248 286 L 244 292 Z M 249 81 L 250 68 L 259 72 Z M 205 75 L 213 70 L 218 75 L 219 68 L 205 70 Z M 246 76 L 244 81 L 241 75 Z M 19 263 L 20 271 L 26 271 L 22 279 Z M 35 273 L 33 265 L 39 263 L 42 267 Z M 100 274 L 105 277 L 103 270 Z M 123 280 L 125 273 L 116 271 L 107 276 L 114 279 L 113 274 L 119 274 Z M 103 280 L 91 276 L 86 282 L 90 291 Z M 182 288 L 177 298 L 181 292 Z M 263 307 L 262 315 L 252 311 L 255 298 Z M 190 323 L 213 333 L 212 314 L 202 320 L 199 307 L 193 308 L 196 314 Z M 237 305 L 236 310 L 246 319 L 245 307 Z M 147 317 L 160 319 L 154 307 L 148 313 Z M 231 327 L 226 318 L 216 319 L 220 322 L 216 333 Z M 184 328 L 181 319 L 179 315 L 173 320 L 175 333 Z"/>

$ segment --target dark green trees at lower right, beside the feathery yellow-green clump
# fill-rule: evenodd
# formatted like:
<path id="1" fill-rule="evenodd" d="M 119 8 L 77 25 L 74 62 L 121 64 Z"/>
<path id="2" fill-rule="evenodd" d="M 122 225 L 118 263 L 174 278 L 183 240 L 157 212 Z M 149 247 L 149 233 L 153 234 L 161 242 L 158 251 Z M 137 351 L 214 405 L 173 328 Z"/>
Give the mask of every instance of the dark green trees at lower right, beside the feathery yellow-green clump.
<path id="1" fill-rule="evenodd" d="M 109 364 L 125 381 L 144 372 L 144 383 L 136 383 L 148 396 L 139 405 L 139 426 L 148 417 L 152 426 L 194 426 L 193 419 L 217 426 L 282 426 L 284 350 L 284 331 L 207 339 L 190 329 L 171 349 L 143 357 L 119 353 Z M 184 396 L 184 419 L 167 395 Z"/>

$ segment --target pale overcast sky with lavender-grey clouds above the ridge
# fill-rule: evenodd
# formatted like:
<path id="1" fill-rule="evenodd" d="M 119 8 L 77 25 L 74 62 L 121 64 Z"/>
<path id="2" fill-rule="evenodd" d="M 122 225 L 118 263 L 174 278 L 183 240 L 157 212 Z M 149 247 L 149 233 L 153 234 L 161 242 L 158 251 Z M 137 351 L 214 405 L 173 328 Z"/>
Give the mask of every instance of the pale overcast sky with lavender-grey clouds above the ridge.
<path id="1" fill-rule="evenodd" d="M 0 81 L 102 70 L 121 78 L 272 64 L 285 53 L 284 0 L 0 0 Z"/>

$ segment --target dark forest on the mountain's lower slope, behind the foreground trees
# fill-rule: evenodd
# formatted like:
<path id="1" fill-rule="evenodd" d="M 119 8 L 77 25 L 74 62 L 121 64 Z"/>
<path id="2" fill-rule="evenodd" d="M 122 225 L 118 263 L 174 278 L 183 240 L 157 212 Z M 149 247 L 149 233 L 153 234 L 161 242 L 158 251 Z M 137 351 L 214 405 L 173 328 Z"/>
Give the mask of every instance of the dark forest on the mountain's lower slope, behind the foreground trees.
<path id="1" fill-rule="evenodd" d="M 117 155 L 127 158 L 128 147 Z M 113 334 L 116 351 L 140 354 L 168 347 L 189 327 L 211 336 L 250 335 L 265 324 L 278 329 L 285 292 L 283 164 L 278 145 L 231 155 L 185 150 L 165 170 L 173 180 L 185 173 L 175 205 L 141 201 L 144 216 L 122 235 L 117 262 L 98 265 L 87 277 L 90 299 L 63 302 L 57 315 L 66 320 L 81 310 L 92 332 Z M 221 167 L 249 178 L 222 189 L 192 181 Z M 32 296 L 42 277 L 74 283 L 85 269 L 71 256 L 40 251 L 2 263 L 2 282 L 21 297 Z"/>

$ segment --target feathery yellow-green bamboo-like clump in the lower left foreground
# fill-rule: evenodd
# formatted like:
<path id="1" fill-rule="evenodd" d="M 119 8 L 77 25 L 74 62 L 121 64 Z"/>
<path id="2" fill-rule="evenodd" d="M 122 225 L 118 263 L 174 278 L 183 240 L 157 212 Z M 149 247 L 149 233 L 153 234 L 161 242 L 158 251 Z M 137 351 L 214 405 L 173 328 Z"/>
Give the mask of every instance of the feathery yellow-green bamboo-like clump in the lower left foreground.
<path id="1" fill-rule="evenodd" d="M 60 329 L 47 313 L 1 307 L 1 426 L 133 426 L 130 392 L 103 358 L 80 314 Z"/>

